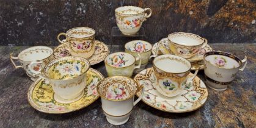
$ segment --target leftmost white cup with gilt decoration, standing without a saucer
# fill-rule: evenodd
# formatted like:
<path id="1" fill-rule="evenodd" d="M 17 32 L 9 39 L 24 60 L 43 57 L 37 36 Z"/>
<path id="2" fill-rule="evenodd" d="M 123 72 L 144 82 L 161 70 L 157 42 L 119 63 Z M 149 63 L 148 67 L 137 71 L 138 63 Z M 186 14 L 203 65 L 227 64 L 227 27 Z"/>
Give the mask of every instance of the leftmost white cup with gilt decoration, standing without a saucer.
<path id="1" fill-rule="evenodd" d="M 35 68 L 44 68 L 46 64 L 53 60 L 53 49 L 46 46 L 34 46 L 21 51 L 20 54 L 18 54 L 18 57 L 13 57 L 11 53 L 10 60 L 15 68 L 23 68 L 26 71 L 27 76 L 34 81 L 38 78 L 38 75 L 32 73 L 27 66 L 35 60 L 40 60 L 42 63 L 38 64 Z M 19 60 L 21 65 L 17 66 L 14 60 Z"/>

